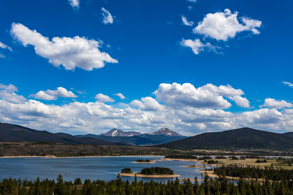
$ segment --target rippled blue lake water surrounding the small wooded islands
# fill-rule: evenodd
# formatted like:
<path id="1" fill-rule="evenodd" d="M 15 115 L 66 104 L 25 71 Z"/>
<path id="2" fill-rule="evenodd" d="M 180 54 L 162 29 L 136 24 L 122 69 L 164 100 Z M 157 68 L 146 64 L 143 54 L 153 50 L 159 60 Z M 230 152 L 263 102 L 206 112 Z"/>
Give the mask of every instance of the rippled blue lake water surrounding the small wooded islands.
<path id="1" fill-rule="evenodd" d="M 200 161 L 156 161 L 155 163 L 132 163 L 137 159 L 158 159 L 164 158 L 154 156 L 115 156 L 115 157 L 78 157 L 78 158 L 43 158 L 43 157 L 19 157 L 19 158 L 0 158 L 0 180 L 4 178 L 23 180 L 35 180 L 40 177 L 41 180 L 48 178 L 55 179 L 59 174 L 64 180 L 74 181 L 76 177 L 80 177 L 83 182 L 85 179 L 90 180 L 105 180 L 110 181 L 117 178 L 117 173 L 121 172 L 122 168 L 131 168 L 133 172 L 140 172 L 146 167 L 168 167 L 174 171 L 174 174 L 181 175 L 178 178 L 194 179 L 197 176 L 201 178 L 200 170 L 202 168 L 185 168 L 181 166 L 197 165 L 202 166 Z M 210 168 L 207 166 L 207 168 Z M 122 180 L 130 182 L 134 177 L 122 176 Z M 165 181 L 170 178 L 149 178 L 137 177 L 137 180 L 150 181 Z M 173 177 L 173 180 L 175 177 Z"/>

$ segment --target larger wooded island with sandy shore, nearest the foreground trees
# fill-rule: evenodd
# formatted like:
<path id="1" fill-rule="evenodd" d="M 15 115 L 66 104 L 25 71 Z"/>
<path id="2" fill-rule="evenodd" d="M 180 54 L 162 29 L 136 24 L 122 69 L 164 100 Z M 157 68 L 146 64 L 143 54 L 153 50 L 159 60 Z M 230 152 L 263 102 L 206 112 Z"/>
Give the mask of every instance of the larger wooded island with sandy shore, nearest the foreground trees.
<path id="1" fill-rule="evenodd" d="M 174 174 L 173 170 L 164 167 L 143 168 L 141 172 L 134 173 L 130 168 L 121 170 L 120 175 L 123 176 L 137 176 L 137 177 L 179 177 Z"/>

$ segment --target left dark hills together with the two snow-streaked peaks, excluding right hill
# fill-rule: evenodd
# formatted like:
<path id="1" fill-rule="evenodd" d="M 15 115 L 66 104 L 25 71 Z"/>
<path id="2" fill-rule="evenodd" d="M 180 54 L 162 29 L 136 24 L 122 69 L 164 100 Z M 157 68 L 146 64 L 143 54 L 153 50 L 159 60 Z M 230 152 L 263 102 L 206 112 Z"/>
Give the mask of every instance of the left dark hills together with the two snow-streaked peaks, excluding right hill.
<path id="1" fill-rule="evenodd" d="M 74 136 L 67 133 L 51 133 L 0 122 L 0 142 L 44 141 L 65 144 L 151 146 L 183 138 L 186 138 L 186 136 L 171 131 L 166 127 L 149 134 L 112 129 L 100 135 L 86 134 Z"/>

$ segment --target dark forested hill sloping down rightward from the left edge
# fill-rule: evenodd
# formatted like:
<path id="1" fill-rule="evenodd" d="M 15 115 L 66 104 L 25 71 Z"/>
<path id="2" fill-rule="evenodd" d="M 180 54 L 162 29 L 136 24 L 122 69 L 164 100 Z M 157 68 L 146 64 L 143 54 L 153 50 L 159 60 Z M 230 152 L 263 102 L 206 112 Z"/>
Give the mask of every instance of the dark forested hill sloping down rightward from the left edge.
<path id="1" fill-rule="evenodd" d="M 75 137 L 66 133 L 50 133 L 0 122 L 0 142 L 44 141 L 64 144 L 117 145 L 93 137 Z M 125 145 L 125 144 L 122 144 Z"/>

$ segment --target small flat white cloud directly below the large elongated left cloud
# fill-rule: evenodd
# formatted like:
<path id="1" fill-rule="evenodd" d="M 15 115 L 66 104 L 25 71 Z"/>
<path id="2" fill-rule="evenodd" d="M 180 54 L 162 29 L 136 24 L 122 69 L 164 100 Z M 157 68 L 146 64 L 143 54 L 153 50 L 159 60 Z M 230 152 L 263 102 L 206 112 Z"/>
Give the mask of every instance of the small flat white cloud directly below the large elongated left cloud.
<path id="1" fill-rule="evenodd" d="M 36 94 L 31 94 L 35 99 L 43 99 L 43 100 L 57 100 L 58 97 L 64 98 L 76 98 L 78 97 L 71 91 L 67 91 L 67 89 L 63 87 L 57 87 L 56 90 L 47 89 L 46 91 L 39 91 Z"/>

